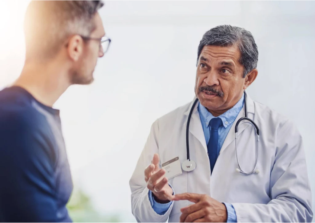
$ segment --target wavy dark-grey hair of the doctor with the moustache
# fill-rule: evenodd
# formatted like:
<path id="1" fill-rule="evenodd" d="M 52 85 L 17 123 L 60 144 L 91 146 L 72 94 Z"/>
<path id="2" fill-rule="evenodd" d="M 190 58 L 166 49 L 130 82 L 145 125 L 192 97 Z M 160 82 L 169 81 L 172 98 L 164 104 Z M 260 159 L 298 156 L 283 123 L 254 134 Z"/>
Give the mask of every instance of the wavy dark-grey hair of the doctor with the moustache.
<path id="1" fill-rule="evenodd" d="M 241 53 L 239 62 L 244 67 L 243 77 L 257 67 L 257 45 L 253 35 L 243 28 L 231 25 L 219 25 L 207 31 L 198 46 L 197 65 L 201 51 L 207 45 L 221 47 L 237 45 Z"/>

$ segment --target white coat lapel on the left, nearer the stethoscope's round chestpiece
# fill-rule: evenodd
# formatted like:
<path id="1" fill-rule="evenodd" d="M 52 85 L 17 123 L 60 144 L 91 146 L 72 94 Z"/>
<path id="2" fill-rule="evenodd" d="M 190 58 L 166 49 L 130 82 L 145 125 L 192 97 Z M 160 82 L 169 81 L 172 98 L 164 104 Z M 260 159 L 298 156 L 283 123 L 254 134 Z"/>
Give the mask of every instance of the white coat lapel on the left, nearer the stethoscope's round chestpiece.
<path id="1" fill-rule="evenodd" d="M 189 106 L 189 109 L 184 113 L 186 115 L 186 121 L 184 122 L 185 129 L 187 126 L 187 119 L 188 119 L 189 112 L 190 112 L 190 110 L 192 108 L 192 104 L 195 100 L 196 100 L 196 97 L 194 98 L 191 105 Z M 198 104 L 199 104 L 199 102 L 195 105 L 194 110 L 192 111 L 192 117 L 191 117 L 190 124 L 189 124 L 189 132 L 195 138 L 198 139 L 198 141 L 201 143 L 201 145 L 203 146 L 205 151 L 207 151 L 206 140 L 204 138 L 204 133 L 203 133 L 203 129 L 202 129 L 201 121 L 200 121 L 200 116 L 199 116 L 199 112 L 198 112 Z M 186 134 L 186 131 L 185 131 L 185 134 Z"/>

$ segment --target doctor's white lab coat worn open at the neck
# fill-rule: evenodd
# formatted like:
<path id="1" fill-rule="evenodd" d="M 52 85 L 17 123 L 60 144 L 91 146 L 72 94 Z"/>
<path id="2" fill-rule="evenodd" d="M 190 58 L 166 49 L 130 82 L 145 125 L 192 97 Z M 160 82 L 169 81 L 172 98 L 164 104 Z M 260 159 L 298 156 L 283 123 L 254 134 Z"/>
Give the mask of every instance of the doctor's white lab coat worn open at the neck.
<path id="1" fill-rule="evenodd" d="M 193 103 L 193 102 L 192 102 Z M 154 153 L 161 163 L 177 156 L 186 158 L 186 124 L 192 103 L 186 104 L 156 120 L 130 179 L 132 213 L 141 223 L 178 223 L 180 209 L 192 204 L 175 201 L 164 215 L 151 206 L 144 180 L 144 169 L 151 164 Z M 176 194 L 192 192 L 208 194 L 232 203 L 238 222 L 311 222 L 312 199 L 308 181 L 302 137 L 295 125 L 282 115 L 247 95 L 248 117 L 260 128 L 258 174 L 245 176 L 236 172 L 236 121 L 232 124 L 212 175 L 200 117 L 195 106 L 190 122 L 190 158 L 197 167 L 169 180 Z M 244 117 L 244 108 L 236 120 Z M 255 164 L 255 128 L 239 125 L 238 156 L 244 171 Z M 161 164 L 160 163 L 160 164 Z"/>

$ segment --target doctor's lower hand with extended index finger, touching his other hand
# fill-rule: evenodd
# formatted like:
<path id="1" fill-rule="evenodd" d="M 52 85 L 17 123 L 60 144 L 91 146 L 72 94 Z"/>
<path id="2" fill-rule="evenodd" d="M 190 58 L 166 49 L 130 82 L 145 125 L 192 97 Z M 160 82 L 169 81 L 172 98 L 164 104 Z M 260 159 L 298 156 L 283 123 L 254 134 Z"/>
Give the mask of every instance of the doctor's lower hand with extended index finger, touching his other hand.
<path id="1" fill-rule="evenodd" d="M 182 193 L 176 194 L 175 201 L 189 200 L 194 204 L 180 209 L 180 223 L 226 222 L 227 211 L 223 203 L 210 198 L 206 194 Z"/>

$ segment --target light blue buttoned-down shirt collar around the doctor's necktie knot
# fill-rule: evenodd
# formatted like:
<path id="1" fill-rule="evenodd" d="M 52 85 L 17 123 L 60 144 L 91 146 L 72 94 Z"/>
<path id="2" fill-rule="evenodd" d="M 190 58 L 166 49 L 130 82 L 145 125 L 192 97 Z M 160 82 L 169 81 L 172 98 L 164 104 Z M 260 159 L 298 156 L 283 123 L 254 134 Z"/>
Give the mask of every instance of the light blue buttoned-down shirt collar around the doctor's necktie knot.
<path id="1" fill-rule="evenodd" d="M 218 118 L 221 118 L 224 128 L 231 125 L 235 121 L 238 113 L 243 108 L 243 103 L 244 94 L 238 103 L 236 103 L 231 109 L 218 116 Z M 215 118 L 201 103 L 198 104 L 198 112 L 203 117 L 203 121 L 206 122 L 207 126 L 209 125 L 210 120 Z"/>

